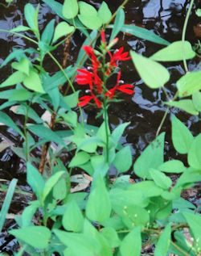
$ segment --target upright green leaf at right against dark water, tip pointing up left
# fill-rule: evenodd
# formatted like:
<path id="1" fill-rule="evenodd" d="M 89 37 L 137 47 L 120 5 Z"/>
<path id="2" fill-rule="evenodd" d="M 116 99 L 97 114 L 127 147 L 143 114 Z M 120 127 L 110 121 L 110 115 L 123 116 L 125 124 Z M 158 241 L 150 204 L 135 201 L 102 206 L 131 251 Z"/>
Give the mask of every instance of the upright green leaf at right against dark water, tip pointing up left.
<path id="1" fill-rule="evenodd" d="M 172 116 L 172 141 L 178 153 L 188 153 L 194 138 L 188 128 Z"/>

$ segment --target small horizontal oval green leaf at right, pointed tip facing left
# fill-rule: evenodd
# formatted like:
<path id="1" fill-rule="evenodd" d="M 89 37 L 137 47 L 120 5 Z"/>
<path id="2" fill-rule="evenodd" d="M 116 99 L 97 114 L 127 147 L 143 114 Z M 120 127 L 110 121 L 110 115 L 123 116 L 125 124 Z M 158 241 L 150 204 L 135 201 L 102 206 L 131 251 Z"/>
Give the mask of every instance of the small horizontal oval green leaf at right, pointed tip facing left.
<path id="1" fill-rule="evenodd" d="M 157 170 L 170 174 L 180 174 L 187 170 L 187 168 L 183 165 L 183 162 L 179 160 L 170 160 L 158 166 Z"/>

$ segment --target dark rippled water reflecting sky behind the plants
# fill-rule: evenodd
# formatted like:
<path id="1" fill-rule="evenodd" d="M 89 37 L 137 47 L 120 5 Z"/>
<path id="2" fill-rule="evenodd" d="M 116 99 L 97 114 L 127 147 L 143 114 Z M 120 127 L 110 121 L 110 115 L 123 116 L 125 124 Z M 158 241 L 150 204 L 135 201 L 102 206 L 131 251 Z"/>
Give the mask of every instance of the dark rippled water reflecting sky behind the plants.
<path id="1" fill-rule="evenodd" d="M 9 30 L 24 23 L 23 8 L 27 2 L 31 2 L 32 4 L 35 4 L 35 6 L 40 4 L 39 27 L 40 30 L 43 31 L 47 22 L 55 16 L 52 14 L 48 6 L 46 6 L 42 1 L 36 0 L 14 1 L 8 9 L 0 6 L 0 27 Z M 94 4 L 94 6 L 99 5 L 98 1 L 91 0 L 88 2 Z M 117 7 L 121 4 L 121 1 L 112 0 L 106 2 L 113 11 L 117 10 Z M 181 40 L 183 22 L 189 2 L 190 1 L 185 0 L 130 0 L 125 8 L 126 23 L 133 23 L 140 27 L 146 27 L 170 42 Z M 195 1 L 195 6 L 200 7 L 200 2 Z M 193 10 L 187 28 L 187 40 L 190 40 L 192 44 L 195 44 L 196 40 L 198 40 L 200 36 L 195 30 L 198 23 L 199 19 L 195 15 L 195 10 Z M 71 52 L 74 53 L 68 58 L 69 64 L 73 63 L 75 60 L 77 54 L 76 49 L 78 49 L 77 46 L 79 46 L 83 40 L 84 37 L 77 35 L 72 39 Z M 140 40 L 134 36 L 126 35 L 120 36 L 118 46 L 121 45 L 123 45 L 128 51 L 133 49 L 137 52 L 141 52 L 147 57 L 162 48 L 159 44 L 150 43 L 146 40 Z M 0 32 L 0 65 L 11 52 L 12 48 L 26 48 L 29 46 L 31 46 L 31 44 L 21 38 Z M 59 51 L 56 54 L 56 57 L 62 61 L 63 48 L 59 48 Z M 189 69 L 197 69 L 198 63 L 199 60 L 196 58 L 195 60 L 188 61 Z M 48 59 L 46 60 L 46 65 L 47 70 L 57 70 L 54 63 Z M 171 96 L 174 95 L 175 92 L 175 82 L 184 74 L 183 63 L 169 63 L 166 67 L 169 69 L 171 75 L 171 80 L 168 82 L 167 86 L 167 93 Z M 132 99 L 126 96 L 123 103 L 111 106 L 109 109 L 109 119 L 111 121 L 112 128 L 122 122 L 131 122 L 129 128 L 125 132 L 126 135 L 122 138 L 122 142 L 131 145 L 133 159 L 136 159 L 146 145 L 148 145 L 150 141 L 154 140 L 158 125 L 166 111 L 166 107 L 162 104 L 162 101 L 166 100 L 166 98 L 164 97 L 162 90 L 150 90 L 143 84 L 131 62 L 128 62 L 127 64 L 124 63 L 121 68 L 122 78 L 125 82 L 134 82 L 135 94 Z M 1 69 L 0 82 L 5 80 L 10 72 L 11 69 L 9 65 Z M 9 110 L 7 113 L 9 113 L 9 115 L 18 124 L 22 122 L 18 115 L 14 115 Z M 174 113 L 180 120 L 183 120 L 194 135 L 197 135 L 200 132 L 198 117 L 187 115 L 187 113 L 179 111 L 176 108 L 173 108 L 171 113 Z M 95 120 L 95 113 L 93 110 L 88 109 L 85 114 L 86 117 L 89 116 L 89 124 L 100 124 L 100 120 Z M 166 160 L 171 157 L 177 157 L 177 154 L 174 152 L 170 143 L 170 114 L 162 127 L 162 131 L 166 131 Z M 15 145 L 20 144 L 20 139 L 10 128 L 0 126 L 0 138 L 2 136 L 1 134 L 8 137 Z M 0 153 L 0 159 L 0 178 L 8 180 L 11 178 L 18 178 L 19 183 L 23 184 L 25 180 L 23 162 L 21 162 L 10 149 L 6 149 L 4 152 Z M 15 204 L 11 207 L 11 212 L 16 213 L 16 209 L 20 208 L 20 204 L 16 202 L 17 200 L 15 200 Z M 4 244 L 4 242 L 5 237 L 0 237 L 0 245 Z M 13 244 L 9 244 L 9 246 L 13 246 Z M 4 246 L 3 250 L 9 251 L 9 246 Z"/>

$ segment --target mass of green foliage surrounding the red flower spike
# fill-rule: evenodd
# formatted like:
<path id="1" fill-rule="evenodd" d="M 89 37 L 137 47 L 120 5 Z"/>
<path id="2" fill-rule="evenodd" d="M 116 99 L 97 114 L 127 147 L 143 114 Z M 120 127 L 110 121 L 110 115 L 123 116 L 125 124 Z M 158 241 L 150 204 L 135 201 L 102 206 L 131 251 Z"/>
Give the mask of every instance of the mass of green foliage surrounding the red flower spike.
<path id="1" fill-rule="evenodd" d="M 77 0 L 64 0 L 63 4 L 55 0 L 43 2 L 59 16 L 59 23 L 55 24 L 58 20 L 55 17 L 43 32 L 39 31 L 39 6 L 35 8 L 28 3 L 24 9 L 25 23 L 9 32 L 31 41 L 33 48 L 14 49 L 1 65 L 1 68 L 10 65 L 13 70 L 0 85 L 0 99 L 5 100 L 1 110 L 11 107 L 15 115 L 21 115 L 23 123 L 15 123 L 4 111 L 0 112 L 0 122 L 21 136 L 22 143 L 11 149 L 27 164 L 27 183 L 35 199 L 22 214 L 15 216 L 18 228 L 9 231 L 22 248 L 18 255 L 25 252 L 47 256 L 139 256 L 144 255 L 146 244 L 154 248 L 155 256 L 199 255 L 200 208 L 182 195 L 186 189 L 195 189 L 201 181 L 200 134 L 193 133 L 193 136 L 189 128 L 172 115 L 171 141 L 186 161 L 182 162 L 179 155 L 178 159 L 166 155 L 164 145 L 168 131 L 160 134 L 162 124 L 156 138 L 133 159 L 129 145 L 121 144 L 121 137 L 130 123 L 116 128 L 109 125 L 109 106 L 118 100 L 106 98 L 104 94 L 96 115 L 101 125 L 95 127 L 84 122 L 82 111 L 78 109 L 80 90 L 74 87 L 79 80 L 75 79 L 76 71 L 88 58 L 94 69 L 95 62 L 105 61 L 110 50 L 110 59 L 113 54 L 116 57 L 121 54 L 115 52 L 119 32 L 165 45 L 151 57 L 130 52 L 137 73 L 153 90 L 161 87 L 166 90 L 170 79 L 165 64 L 158 61 L 195 57 L 191 43 L 184 40 L 170 43 L 145 28 L 125 24 L 124 6 L 112 14 L 104 1 L 99 8 Z M 90 34 L 88 30 L 92 30 Z M 29 33 L 20 34 L 26 31 Z M 77 35 L 82 33 L 82 38 L 86 36 L 83 46 L 92 48 L 88 48 L 88 55 L 79 48 L 74 63 L 63 69 L 55 58 L 55 51 L 67 37 L 71 40 L 75 31 Z M 127 56 L 126 52 L 123 54 Z M 55 64 L 59 71 L 54 72 L 52 68 L 47 72 L 46 57 L 51 58 L 51 65 Z M 119 58 L 117 61 L 124 55 Z M 104 86 L 110 75 L 117 76 L 120 69 L 117 61 L 115 65 L 109 62 L 108 66 L 100 63 L 97 68 L 104 71 L 100 78 Z M 200 71 L 184 74 L 175 81 L 178 92 L 164 105 L 178 107 L 199 118 L 200 81 Z M 133 94 L 129 89 L 132 85 L 117 86 L 121 88 L 119 92 Z M 116 90 L 117 86 L 112 89 Z M 93 94 L 92 99 L 97 105 L 100 94 Z M 43 110 L 43 114 L 35 111 L 35 106 Z M 36 157 L 38 152 L 41 158 Z M 62 162 L 64 157 L 67 161 Z M 135 180 L 129 172 L 133 162 Z M 113 178 L 111 170 L 115 172 Z M 172 174 L 178 175 L 176 181 L 172 180 Z M 13 180 L 2 205 L 1 230 L 15 186 L 16 180 Z M 184 228 L 190 229 L 192 244 L 184 236 Z"/>

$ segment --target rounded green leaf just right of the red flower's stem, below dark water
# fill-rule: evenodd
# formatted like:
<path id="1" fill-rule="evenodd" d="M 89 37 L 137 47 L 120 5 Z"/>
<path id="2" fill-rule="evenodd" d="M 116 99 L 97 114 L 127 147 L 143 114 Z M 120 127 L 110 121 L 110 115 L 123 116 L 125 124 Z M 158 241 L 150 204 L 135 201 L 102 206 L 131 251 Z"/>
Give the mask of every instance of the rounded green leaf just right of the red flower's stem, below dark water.
<path id="1" fill-rule="evenodd" d="M 129 170 L 130 166 L 132 165 L 132 154 L 129 145 L 116 153 L 113 165 L 120 173 Z"/>

